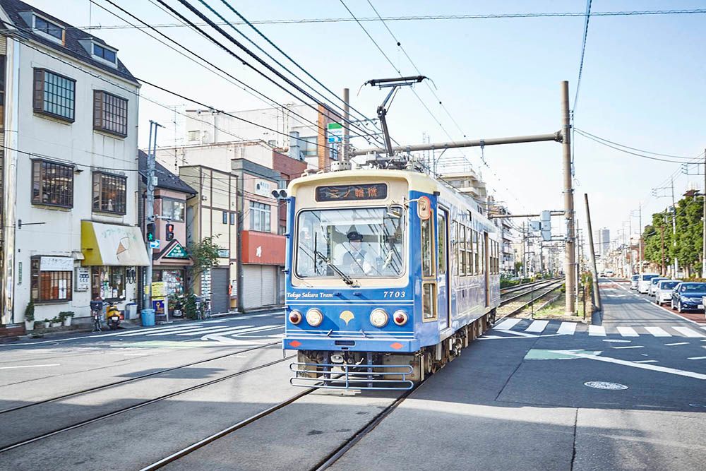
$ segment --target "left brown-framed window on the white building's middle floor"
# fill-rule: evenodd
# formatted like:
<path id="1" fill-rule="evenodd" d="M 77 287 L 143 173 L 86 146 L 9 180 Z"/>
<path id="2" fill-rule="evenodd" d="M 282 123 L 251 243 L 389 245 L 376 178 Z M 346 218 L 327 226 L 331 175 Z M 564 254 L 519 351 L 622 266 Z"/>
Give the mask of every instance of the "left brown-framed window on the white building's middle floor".
<path id="1" fill-rule="evenodd" d="M 32 160 L 32 204 L 73 208 L 73 167 Z"/>

